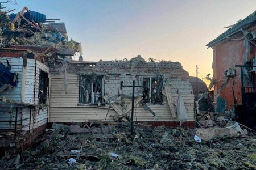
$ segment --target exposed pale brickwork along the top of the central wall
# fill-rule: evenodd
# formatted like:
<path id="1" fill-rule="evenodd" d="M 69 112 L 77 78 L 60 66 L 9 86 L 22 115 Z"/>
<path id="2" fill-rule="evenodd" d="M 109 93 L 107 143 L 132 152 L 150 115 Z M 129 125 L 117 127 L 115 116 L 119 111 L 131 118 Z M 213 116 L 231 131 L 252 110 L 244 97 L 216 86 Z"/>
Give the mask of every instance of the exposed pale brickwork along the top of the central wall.
<path id="1" fill-rule="evenodd" d="M 158 67 L 156 67 L 156 64 Z M 49 62 L 51 72 L 61 73 L 63 61 Z M 160 72 L 159 72 L 159 70 Z M 191 94 L 192 87 L 189 83 L 189 74 L 179 62 L 130 62 L 130 61 L 99 61 L 96 65 L 77 65 L 69 63 L 67 73 L 84 75 L 105 75 L 105 92 L 110 96 L 120 94 L 131 95 L 131 88 L 124 87 L 120 90 L 120 82 L 130 85 L 135 80 L 136 85 L 142 85 L 142 78 L 154 77 L 162 73 L 166 83 L 171 84 L 172 93 L 179 89 L 181 94 Z M 135 93 L 141 94 L 141 88 L 135 88 Z"/>

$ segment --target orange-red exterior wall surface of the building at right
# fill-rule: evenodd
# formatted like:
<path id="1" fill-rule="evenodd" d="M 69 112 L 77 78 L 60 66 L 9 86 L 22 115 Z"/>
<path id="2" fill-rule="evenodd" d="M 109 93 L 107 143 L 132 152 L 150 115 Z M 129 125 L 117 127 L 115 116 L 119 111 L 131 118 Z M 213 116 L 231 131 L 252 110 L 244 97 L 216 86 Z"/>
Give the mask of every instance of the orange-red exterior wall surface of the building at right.
<path id="1" fill-rule="evenodd" d="M 237 103 L 242 104 L 241 97 L 241 71 L 240 67 L 235 65 L 243 65 L 243 54 L 245 48 L 243 48 L 243 40 L 240 41 L 224 41 L 220 42 L 213 47 L 213 75 L 217 80 L 217 84 L 214 86 L 214 97 L 216 99 L 218 90 L 222 83 L 226 79 L 224 71 L 229 68 L 236 70 L 236 77 L 233 80 L 228 80 L 226 87 L 220 92 L 220 97 L 226 101 L 226 109 L 233 108 L 234 99 L 232 87 L 234 88 L 234 96 L 236 97 Z M 255 57 L 255 47 L 249 52 L 248 59 Z M 217 101 L 217 100 L 215 100 Z"/>

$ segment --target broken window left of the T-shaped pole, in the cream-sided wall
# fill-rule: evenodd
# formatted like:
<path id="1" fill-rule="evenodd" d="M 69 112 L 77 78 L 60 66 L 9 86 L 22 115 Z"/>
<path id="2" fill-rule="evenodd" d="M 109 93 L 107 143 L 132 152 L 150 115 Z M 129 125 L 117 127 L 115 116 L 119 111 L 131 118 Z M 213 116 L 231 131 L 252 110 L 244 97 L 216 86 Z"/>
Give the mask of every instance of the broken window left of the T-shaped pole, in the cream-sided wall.
<path id="1" fill-rule="evenodd" d="M 102 103 L 102 76 L 80 76 L 79 104 Z"/>

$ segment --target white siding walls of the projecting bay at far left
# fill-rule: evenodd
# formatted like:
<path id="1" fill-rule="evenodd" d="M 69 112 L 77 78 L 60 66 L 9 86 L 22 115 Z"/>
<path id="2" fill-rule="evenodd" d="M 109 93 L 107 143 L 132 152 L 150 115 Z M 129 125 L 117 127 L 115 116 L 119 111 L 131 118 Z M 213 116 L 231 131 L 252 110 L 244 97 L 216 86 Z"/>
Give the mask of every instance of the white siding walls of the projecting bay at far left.
<path id="1" fill-rule="evenodd" d="M 13 100 L 13 103 L 22 103 L 22 84 L 24 84 L 24 102 L 26 104 L 38 104 L 38 91 L 39 91 L 39 69 L 49 73 L 49 68 L 39 61 L 34 59 L 27 59 L 26 71 L 22 69 L 23 58 L 0 58 L 0 62 L 7 66 L 6 59 L 8 59 L 11 65 L 11 72 L 17 72 L 18 75 L 18 86 L 13 87 L 10 90 L 3 91 L 0 93 L 0 96 L 5 96 L 6 99 Z M 35 64 L 36 63 L 36 64 Z M 35 75 L 35 66 L 36 66 L 36 75 Z M 23 73 L 26 75 L 23 76 Z M 36 79 L 35 79 L 36 76 Z M 24 78 L 24 79 L 22 79 Z M 25 82 L 23 82 L 25 81 Z M 36 86 L 35 86 L 36 84 Z M 35 96 L 34 96 L 35 95 Z M 12 114 L 12 115 L 10 115 Z M 13 109 L 12 113 L 10 108 L 0 108 L 0 117 L 1 120 L 10 120 L 15 121 L 15 110 Z M 18 110 L 18 120 L 29 118 L 30 117 L 30 108 L 25 107 Z M 48 109 L 38 110 L 38 107 L 32 108 L 31 115 L 31 129 L 37 128 L 40 125 L 46 124 L 48 119 Z M 27 125 L 30 120 L 19 121 L 18 125 Z M 5 123 L 6 124 L 6 123 Z M 1 124 L 3 126 L 3 124 Z M 14 122 L 11 125 L 14 127 Z M 9 123 L 6 124 L 6 128 L 10 128 Z M 24 127 L 22 130 L 28 130 L 28 126 Z"/>

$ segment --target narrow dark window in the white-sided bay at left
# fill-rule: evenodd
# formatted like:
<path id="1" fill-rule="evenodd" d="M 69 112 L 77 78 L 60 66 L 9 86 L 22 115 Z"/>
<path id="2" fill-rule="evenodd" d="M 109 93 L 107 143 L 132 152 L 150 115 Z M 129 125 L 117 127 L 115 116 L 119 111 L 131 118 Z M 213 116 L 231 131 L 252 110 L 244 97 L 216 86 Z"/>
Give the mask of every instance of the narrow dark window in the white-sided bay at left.
<path id="1" fill-rule="evenodd" d="M 47 104 L 47 87 L 48 87 L 48 75 L 46 72 L 40 70 L 39 73 L 39 104 Z"/>

